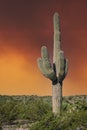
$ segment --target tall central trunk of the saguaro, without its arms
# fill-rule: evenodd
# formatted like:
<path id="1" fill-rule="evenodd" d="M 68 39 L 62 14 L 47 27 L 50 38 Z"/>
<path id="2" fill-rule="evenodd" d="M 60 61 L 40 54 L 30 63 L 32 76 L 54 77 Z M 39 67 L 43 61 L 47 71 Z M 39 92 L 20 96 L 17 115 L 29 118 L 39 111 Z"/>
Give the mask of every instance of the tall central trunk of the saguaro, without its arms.
<path id="1" fill-rule="evenodd" d="M 60 55 L 58 52 L 61 51 L 60 48 L 60 26 L 59 26 L 59 16 L 57 13 L 54 15 L 54 51 L 53 51 L 53 64 L 56 68 L 56 76 L 59 77 L 60 68 Z M 58 80 L 58 78 L 57 78 Z M 62 109 L 62 83 L 58 82 L 52 85 L 52 109 L 53 113 L 60 114 Z"/>

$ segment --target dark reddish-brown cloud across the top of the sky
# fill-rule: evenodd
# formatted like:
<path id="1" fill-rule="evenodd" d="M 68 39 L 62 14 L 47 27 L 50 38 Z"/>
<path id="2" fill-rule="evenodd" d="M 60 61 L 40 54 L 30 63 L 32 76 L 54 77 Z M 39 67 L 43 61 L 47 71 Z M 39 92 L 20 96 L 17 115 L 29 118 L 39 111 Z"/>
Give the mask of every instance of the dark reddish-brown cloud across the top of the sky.
<path id="1" fill-rule="evenodd" d="M 38 49 L 43 43 L 50 48 L 53 42 L 52 17 L 57 11 L 61 18 L 63 47 L 71 53 L 72 47 L 82 44 L 77 43 L 81 38 L 79 32 L 87 33 L 86 5 L 86 0 L 3 0 L 0 2 L 0 38 L 4 39 L 3 44 L 16 48 L 21 45 L 22 49 L 30 46 Z"/>

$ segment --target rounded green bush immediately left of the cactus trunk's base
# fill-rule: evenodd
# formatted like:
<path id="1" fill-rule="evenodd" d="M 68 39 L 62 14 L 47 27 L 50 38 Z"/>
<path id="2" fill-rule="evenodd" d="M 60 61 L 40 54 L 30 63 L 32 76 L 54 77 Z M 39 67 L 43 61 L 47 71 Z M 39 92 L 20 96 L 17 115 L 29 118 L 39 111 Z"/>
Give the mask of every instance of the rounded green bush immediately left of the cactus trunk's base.
<path id="1" fill-rule="evenodd" d="M 27 111 L 25 112 L 25 118 L 30 121 L 41 120 L 44 114 L 47 114 L 48 111 L 51 111 L 49 104 L 44 103 L 43 100 L 35 100 L 27 105 Z"/>

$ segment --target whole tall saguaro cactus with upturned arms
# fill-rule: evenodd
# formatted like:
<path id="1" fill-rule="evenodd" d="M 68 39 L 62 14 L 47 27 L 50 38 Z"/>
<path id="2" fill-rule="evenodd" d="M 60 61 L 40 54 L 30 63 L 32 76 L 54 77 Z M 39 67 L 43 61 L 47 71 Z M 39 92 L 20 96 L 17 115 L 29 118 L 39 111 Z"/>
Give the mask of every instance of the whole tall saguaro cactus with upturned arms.
<path id="1" fill-rule="evenodd" d="M 51 65 L 47 47 L 42 46 L 41 58 L 38 58 L 38 67 L 42 74 L 52 81 L 52 108 L 53 113 L 61 112 L 62 106 L 62 82 L 67 74 L 68 60 L 61 50 L 60 21 L 58 13 L 54 14 L 54 50 L 53 65 Z"/>

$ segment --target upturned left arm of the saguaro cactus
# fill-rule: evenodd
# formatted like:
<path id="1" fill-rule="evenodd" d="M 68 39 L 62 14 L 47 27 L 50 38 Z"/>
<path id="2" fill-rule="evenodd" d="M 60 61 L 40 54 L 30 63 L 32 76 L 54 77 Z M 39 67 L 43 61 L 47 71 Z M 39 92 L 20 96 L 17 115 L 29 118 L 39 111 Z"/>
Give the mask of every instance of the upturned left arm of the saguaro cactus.
<path id="1" fill-rule="evenodd" d="M 50 60 L 49 60 L 49 55 L 47 51 L 47 47 L 43 46 L 41 48 L 41 58 L 38 58 L 38 67 L 41 71 L 41 73 L 49 78 L 50 80 L 56 79 L 55 72 L 51 66 Z"/>

